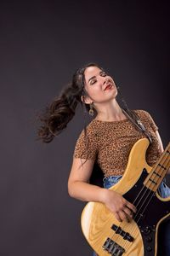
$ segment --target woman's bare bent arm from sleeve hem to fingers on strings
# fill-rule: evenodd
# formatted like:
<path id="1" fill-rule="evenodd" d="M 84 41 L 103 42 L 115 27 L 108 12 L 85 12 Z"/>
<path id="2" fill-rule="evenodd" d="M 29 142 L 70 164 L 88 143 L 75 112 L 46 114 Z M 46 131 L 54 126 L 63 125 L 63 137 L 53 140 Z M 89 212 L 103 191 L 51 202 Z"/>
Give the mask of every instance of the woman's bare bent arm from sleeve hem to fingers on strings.
<path id="1" fill-rule="evenodd" d="M 104 203 L 119 221 L 132 218 L 132 211 L 135 212 L 136 208 L 125 200 L 122 195 L 119 195 L 116 191 L 103 189 L 88 183 L 93 166 L 94 160 L 73 159 L 71 174 L 68 180 L 69 195 L 82 201 L 99 201 Z"/>

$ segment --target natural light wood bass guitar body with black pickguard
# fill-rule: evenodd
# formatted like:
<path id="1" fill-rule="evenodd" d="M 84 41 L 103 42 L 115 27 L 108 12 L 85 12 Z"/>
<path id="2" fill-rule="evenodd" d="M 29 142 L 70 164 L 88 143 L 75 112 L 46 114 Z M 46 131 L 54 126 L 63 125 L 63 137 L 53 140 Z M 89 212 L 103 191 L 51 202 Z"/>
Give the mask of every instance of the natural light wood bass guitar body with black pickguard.
<path id="1" fill-rule="evenodd" d="M 145 161 L 145 152 L 148 146 L 149 141 L 146 138 L 141 139 L 134 144 L 129 154 L 127 168 L 122 179 L 116 183 L 116 185 L 111 187 L 111 190 L 120 193 L 132 203 L 136 198 L 136 195 L 134 194 L 137 193 L 137 195 L 139 195 L 139 191 L 141 191 L 143 187 L 148 193 L 144 195 L 144 200 L 150 195 L 150 191 L 155 191 L 149 180 L 147 183 L 145 182 L 149 176 L 148 173 L 151 175 L 151 172 L 154 172 L 153 168 L 151 168 Z M 157 177 L 162 177 L 162 175 L 156 175 Z M 160 183 L 161 180 L 159 181 Z M 139 181 L 140 184 L 138 184 Z M 157 186 L 158 185 L 159 184 L 157 184 Z M 150 189 L 147 189 L 149 186 L 151 186 Z M 140 218 L 139 215 L 136 220 L 132 220 L 130 223 L 125 221 L 122 223 L 118 222 L 113 213 L 110 212 L 104 204 L 99 202 L 88 202 L 82 211 L 81 223 L 83 235 L 86 237 L 89 245 L 99 254 L 99 256 L 156 255 L 156 233 L 158 225 L 163 218 L 167 218 L 167 216 L 170 215 L 167 210 L 170 210 L 170 201 L 169 198 L 161 199 L 157 192 L 156 195 L 153 192 L 152 198 L 154 198 L 154 200 L 153 203 L 150 203 L 151 210 L 147 208 L 147 210 L 151 212 L 144 210 L 144 216 L 140 213 L 142 218 Z M 157 207 L 161 207 L 163 210 L 158 214 L 159 216 L 152 219 L 150 222 L 150 218 L 152 218 L 151 214 L 154 213 L 153 209 L 156 204 Z M 146 244 L 147 242 L 149 242 L 149 245 Z M 149 254 L 147 254 L 147 252 L 149 252 Z"/>

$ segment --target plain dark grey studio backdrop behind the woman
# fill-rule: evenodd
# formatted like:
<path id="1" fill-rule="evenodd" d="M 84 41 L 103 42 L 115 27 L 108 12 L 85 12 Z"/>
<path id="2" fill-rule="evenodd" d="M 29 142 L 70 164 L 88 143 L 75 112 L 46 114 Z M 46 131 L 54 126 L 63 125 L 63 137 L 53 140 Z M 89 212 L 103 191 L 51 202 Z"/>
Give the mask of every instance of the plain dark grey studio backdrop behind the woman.
<path id="1" fill-rule="evenodd" d="M 168 136 L 169 9 L 166 1 L 0 3 L 0 255 L 91 255 L 84 203 L 67 195 L 82 109 L 50 144 L 36 141 L 36 115 L 77 67 L 96 61 L 129 108 L 154 117 Z"/>

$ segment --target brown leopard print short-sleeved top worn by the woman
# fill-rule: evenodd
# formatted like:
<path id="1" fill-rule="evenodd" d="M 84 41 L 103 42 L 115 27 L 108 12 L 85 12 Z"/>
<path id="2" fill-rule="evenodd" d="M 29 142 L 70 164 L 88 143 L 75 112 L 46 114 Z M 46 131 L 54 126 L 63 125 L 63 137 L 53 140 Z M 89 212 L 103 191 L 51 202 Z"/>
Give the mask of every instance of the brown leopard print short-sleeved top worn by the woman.
<path id="1" fill-rule="evenodd" d="M 150 132 L 152 143 L 146 151 L 146 161 L 150 166 L 153 166 L 161 155 L 155 133 L 158 128 L 150 113 L 144 110 L 135 110 L 135 113 L 137 113 L 147 131 Z M 87 137 L 85 137 L 83 130 L 77 139 L 74 157 L 97 160 L 105 177 L 108 177 L 123 174 L 133 144 L 143 138 L 144 134 L 137 130 L 129 119 L 120 121 L 94 119 L 87 126 Z"/>

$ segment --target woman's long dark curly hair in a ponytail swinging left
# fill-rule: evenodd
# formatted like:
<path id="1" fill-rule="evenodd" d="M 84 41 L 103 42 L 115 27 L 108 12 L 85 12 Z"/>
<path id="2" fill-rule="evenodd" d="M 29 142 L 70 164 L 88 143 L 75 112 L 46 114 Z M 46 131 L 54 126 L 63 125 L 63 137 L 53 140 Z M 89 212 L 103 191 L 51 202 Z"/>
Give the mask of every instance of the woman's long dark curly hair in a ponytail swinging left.
<path id="1" fill-rule="evenodd" d="M 39 115 L 38 119 L 42 125 L 38 129 L 37 135 L 43 143 L 50 143 L 54 137 L 66 128 L 76 113 L 78 103 L 84 104 L 85 108 L 89 110 L 89 105 L 82 102 L 81 99 L 81 96 L 88 95 L 84 88 L 84 72 L 87 67 L 99 67 L 103 70 L 96 63 L 88 63 L 78 68 L 73 74 L 71 83 L 61 91 L 59 96 L 54 98 L 54 101 L 49 104 L 44 113 Z"/>

